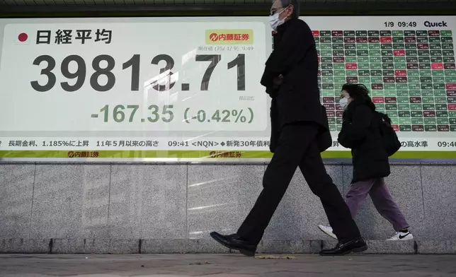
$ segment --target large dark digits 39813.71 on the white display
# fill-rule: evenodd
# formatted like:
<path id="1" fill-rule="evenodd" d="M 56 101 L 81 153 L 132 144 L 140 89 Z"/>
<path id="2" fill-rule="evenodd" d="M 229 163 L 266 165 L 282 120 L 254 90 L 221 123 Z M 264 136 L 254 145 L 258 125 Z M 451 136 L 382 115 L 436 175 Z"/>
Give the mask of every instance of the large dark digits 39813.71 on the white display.
<path id="1" fill-rule="evenodd" d="M 197 54 L 195 55 L 195 61 L 207 61 L 210 62 L 209 66 L 205 70 L 203 74 L 203 78 L 200 84 L 200 90 L 207 90 L 209 88 L 209 81 L 210 77 L 212 76 L 212 72 L 215 69 L 215 66 L 219 64 L 220 60 L 222 59 L 222 55 L 220 54 Z M 101 67 L 101 62 L 106 62 L 106 67 Z M 158 65 L 160 61 L 165 62 L 164 68 L 160 69 L 159 73 L 164 73 L 169 71 L 169 76 L 173 75 L 171 69 L 174 67 L 174 60 L 172 57 L 166 54 L 159 54 L 154 59 L 152 59 L 151 64 Z M 50 55 L 41 55 L 37 57 L 33 64 L 36 66 L 40 66 L 42 62 L 45 62 L 47 66 L 44 69 L 41 69 L 41 75 L 45 75 L 47 77 L 47 83 L 41 85 L 38 81 L 31 81 L 30 85 L 32 88 L 38 92 L 46 92 L 54 88 L 55 84 L 57 83 L 57 77 L 53 72 L 55 70 L 56 61 Z M 69 71 L 69 64 L 76 63 L 76 70 L 74 72 Z M 131 68 L 131 90 L 137 91 L 139 90 L 139 65 L 141 62 L 141 56 L 139 54 L 134 54 L 133 57 L 125 61 L 122 64 L 122 70 L 130 69 Z M 229 61 L 227 64 L 227 69 L 232 69 L 234 66 L 237 68 L 237 90 L 245 90 L 245 54 L 238 54 L 235 59 Z M 92 61 L 92 68 L 95 71 L 90 76 L 90 86 L 93 90 L 99 92 L 105 92 L 112 89 L 115 85 L 115 75 L 112 72 L 115 68 L 115 59 L 107 54 L 101 54 L 95 57 Z M 87 66 L 86 61 L 79 56 L 79 55 L 69 55 L 62 60 L 62 64 L 60 64 L 60 71 L 65 78 L 68 79 L 76 79 L 74 84 L 70 85 L 69 82 L 61 82 L 60 86 L 62 89 L 68 92 L 73 92 L 82 88 L 86 81 L 87 75 Z M 99 83 L 98 78 L 100 76 L 106 76 L 108 81 L 106 84 L 102 85 Z M 172 78 L 169 78 L 172 80 Z M 168 85 L 160 85 L 157 81 L 152 83 L 152 87 L 158 91 L 165 91 L 173 88 L 175 85 L 175 81 L 171 81 Z"/>

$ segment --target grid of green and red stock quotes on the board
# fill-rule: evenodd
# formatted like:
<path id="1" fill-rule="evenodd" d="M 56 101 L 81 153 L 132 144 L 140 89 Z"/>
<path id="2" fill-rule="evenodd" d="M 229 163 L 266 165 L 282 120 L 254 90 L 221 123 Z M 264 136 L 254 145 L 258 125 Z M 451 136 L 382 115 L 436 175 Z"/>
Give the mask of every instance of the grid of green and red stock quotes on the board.
<path id="1" fill-rule="evenodd" d="M 331 131 L 340 131 L 344 83 L 362 83 L 396 131 L 456 132 L 451 30 L 314 30 L 319 88 Z"/>

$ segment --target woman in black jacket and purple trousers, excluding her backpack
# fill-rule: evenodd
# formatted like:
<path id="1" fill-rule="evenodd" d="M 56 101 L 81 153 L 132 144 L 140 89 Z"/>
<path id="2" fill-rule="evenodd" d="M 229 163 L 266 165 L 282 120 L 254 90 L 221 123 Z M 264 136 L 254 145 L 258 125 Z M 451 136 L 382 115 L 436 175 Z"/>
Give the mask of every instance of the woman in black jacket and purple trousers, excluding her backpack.
<path id="1" fill-rule="evenodd" d="M 377 211 L 396 231 L 389 240 L 412 240 L 409 223 L 384 184 L 384 177 L 390 174 L 389 160 L 369 90 L 361 84 L 346 84 L 342 87 L 339 103 L 344 112 L 338 142 L 350 148 L 353 157 L 353 179 L 346 196 L 352 217 L 355 218 L 369 194 Z M 336 238 L 331 227 L 319 225 L 319 228 Z"/>

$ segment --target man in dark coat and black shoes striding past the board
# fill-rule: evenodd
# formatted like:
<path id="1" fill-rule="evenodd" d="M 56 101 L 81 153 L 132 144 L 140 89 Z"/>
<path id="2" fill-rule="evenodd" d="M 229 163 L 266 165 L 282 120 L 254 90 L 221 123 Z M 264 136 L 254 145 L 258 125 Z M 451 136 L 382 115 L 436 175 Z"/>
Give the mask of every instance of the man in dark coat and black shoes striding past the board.
<path id="1" fill-rule="evenodd" d="M 326 173 L 317 137 L 327 131 L 318 88 L 318 57 L 309 26 L 299 18 L 296 0 L 276 0 L 270 25 L 277 31 L 273 53 L 266 61 L 261 84 L 273 98 L 274 155 L 263 177 L 263 191 L 236 234 L 212 238 L 225 247 L 253 256 L 275 209 L 297 169 L 319 196 L 329 223 L 339 238 L 322 255 L 341 255 L 367 249 L 343 197 Z"/>

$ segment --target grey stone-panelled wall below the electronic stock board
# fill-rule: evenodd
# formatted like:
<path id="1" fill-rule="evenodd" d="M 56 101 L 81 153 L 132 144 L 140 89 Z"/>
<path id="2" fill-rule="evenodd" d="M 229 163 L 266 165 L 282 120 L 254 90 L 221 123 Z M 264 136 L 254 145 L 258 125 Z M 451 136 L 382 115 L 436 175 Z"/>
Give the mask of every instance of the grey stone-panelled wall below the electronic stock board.
<path id="1" fill-rule="evenodd" d="M 235 232 L 261 191 L 266 165 L 1 164 L 0 252 L 225 252 L 212 230 Z M 328 164 L 342 193 L 350 165 Z M 456 253 L 456 166 L 392 165 L 387 184 L 416 241 L 365 201 L 357 222 L 370 252 Z M 319 251 L 319 199 L 300 172 L 266 230 L 262 252 Z"/>

